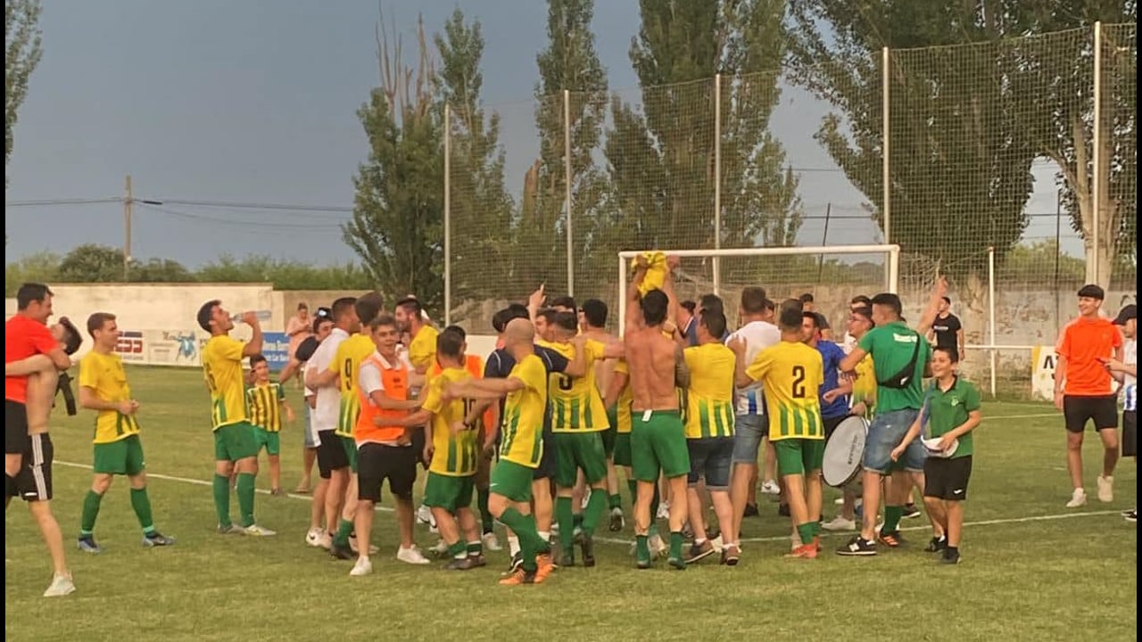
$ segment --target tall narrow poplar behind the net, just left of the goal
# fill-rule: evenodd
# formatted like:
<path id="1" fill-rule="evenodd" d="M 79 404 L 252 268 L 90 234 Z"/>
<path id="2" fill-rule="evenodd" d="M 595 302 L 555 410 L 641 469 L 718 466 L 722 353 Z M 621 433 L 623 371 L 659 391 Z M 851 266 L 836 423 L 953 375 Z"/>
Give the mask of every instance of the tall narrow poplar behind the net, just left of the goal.
<path id="1" fill-rule="evenodd" d="M 566 274 L 565 131 L 571 138 L 572 240 L 577 262 L 592 265 L 590 248 L 605 244 L 600 242 L 605 234 L 595 225 L 600 220 L 604 180 L 592 154 L 600 146 L 606 118 L 606 70 L 595 51 L 595 37 L 590 32 L 594 13 L 594 0 L 547 2 L 548 45 L 537 56 L 539 160 L 529 172 L 514 225 L 516 243 L 526 248 L 528 260 L 520 262 L 515 271 L 523 288 L 546 282 L 552 291 L 561 291 L 560 284 L 566 283 L 556 278 Z M 570 119 L 564 119 L 564 90 L 569 91 Z M 596 232 L 600 238 L 595 238 Z M 577 275 L 601 276 L 597 271 L 579 271 Z M 578 282 L 586 286 L 581 280 Z M 579 289 L 592 291 L 590 288 Z"/>

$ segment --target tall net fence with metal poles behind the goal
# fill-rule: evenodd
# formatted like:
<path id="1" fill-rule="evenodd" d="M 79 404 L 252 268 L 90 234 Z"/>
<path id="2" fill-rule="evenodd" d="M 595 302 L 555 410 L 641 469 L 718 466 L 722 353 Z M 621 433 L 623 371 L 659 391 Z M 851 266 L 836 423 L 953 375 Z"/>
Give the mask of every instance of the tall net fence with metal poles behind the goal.
<path id="1" fill-rule="evenodd" d="M 1135 296 L 1136 59 L 1136 25 L 1100 25 L 450 105 L 450 320 L 489 331 L 539 283 L 613 306 L 619 251 L 896 243 L 906 316 L 947 276 L 967 372 L 1026 396 L 1081 283 Z M 834 324 L 884 283 L 875 255 L 682 270 L 686 298 L 811 292 Z"/>

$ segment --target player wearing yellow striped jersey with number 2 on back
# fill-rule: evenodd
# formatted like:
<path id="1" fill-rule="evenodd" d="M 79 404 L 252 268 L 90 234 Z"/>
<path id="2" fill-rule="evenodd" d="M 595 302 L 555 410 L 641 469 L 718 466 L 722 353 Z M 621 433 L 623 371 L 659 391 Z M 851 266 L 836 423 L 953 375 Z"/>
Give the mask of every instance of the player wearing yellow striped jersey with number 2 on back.
<path id="1" fill-rule="evenodd" d="M 735 379 L 745 387 L 762 382 L 770 411 L 770 441 L 778 458 L 778 474 L 785 481 L 789 514 L 801 546 L 793 556 L 815 559 L 821 514 L 821 460 L 825 457 L 825 425 L 818 392 L 825 382 L 821 353 L 805 343 L 801 302 L 781 304 L 778 327 L 781 343 L 759 352 L 750 364 L 738 361 Z M 730 347 L 739 358 L 743 342 Z"/>

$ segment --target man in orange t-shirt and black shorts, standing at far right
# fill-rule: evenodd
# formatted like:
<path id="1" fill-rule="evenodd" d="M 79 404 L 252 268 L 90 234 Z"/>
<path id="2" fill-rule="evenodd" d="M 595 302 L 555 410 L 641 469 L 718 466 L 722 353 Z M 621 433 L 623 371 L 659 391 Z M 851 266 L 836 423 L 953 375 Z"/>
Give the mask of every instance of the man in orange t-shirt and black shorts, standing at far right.
<path id="1" fill-rule="evenodd" d="M 1118 463 L 1118 406 L 1107 363 L 1121 360 L 1123 337 L 1109 319 L 1099 314 L 1105 292 L 1095 284 L 1078 291 L 1078 319 L 1063 328 L 1055 352 L 1055 408 L 1067 424 L 1067 471 L 1071 491 L 1068 508 L 1086 504 L 1083 489 L 1083 431 L 1087 422 L 1102 438 L 1102 474 L 1099 500 L 1113 501 L 1115 464 Z"/>

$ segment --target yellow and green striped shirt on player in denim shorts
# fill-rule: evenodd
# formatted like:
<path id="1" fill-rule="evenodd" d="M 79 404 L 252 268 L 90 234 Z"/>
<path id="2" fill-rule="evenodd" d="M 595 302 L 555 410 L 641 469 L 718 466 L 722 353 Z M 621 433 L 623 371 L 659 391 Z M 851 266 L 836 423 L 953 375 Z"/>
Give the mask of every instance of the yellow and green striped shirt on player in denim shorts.
<path id="1" fill-rule="evenodd" d="M 686 439 L 733 436 L 733 369 L 737 358 L 721 343 L 687 347 Z"/>

